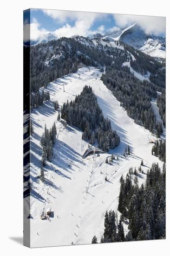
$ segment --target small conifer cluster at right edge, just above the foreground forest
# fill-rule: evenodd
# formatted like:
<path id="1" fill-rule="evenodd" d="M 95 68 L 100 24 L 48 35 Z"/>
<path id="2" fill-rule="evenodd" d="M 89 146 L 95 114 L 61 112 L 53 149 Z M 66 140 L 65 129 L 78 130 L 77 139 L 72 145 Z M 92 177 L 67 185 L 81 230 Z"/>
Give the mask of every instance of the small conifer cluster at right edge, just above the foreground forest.
<path id="1" fill-rule="evenodd" d="M 155 155 L 159 157 L 161 161 L 166 162 L 166 141 L 155 141 L 155 145 L 152 147 L 152 155 Z"/>

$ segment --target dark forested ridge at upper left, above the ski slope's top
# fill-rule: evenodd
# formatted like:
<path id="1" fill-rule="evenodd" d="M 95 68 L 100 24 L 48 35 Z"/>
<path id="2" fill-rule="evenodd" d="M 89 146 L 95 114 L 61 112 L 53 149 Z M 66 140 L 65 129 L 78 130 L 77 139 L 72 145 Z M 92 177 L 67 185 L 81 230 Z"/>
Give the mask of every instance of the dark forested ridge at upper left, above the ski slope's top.
<path id="1" fill-rule="evenodd" d="M 31 92 L 37 92 L 49 82 L 76 72 L 81 63 L 86 66 L 104 67 L 111 65 L 112 54 L 122 61 L 126 61 L 128 56 L 130 58 L 127 51 L 107 45 L 104 47 L 99 43 L 98 47 L 95 47 L 90 39 L 81 37 L 82 41 L 84 39 L 87 42 L 84 44 L 78 39 L 79 37 L 77 39 L 62 37 L 31 46 Z"/>

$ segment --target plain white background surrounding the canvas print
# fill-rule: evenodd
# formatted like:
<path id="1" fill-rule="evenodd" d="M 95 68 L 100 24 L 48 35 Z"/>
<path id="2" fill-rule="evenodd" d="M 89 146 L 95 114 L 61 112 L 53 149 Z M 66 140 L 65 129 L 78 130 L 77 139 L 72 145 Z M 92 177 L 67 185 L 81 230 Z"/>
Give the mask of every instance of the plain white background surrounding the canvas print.
<path id="1" fill-rule="evenodd" d="M 170 243 L 170 140 L 167 132 L 167 239 L 28 249 L 23 235 L 23 10 L 63 9 L 105 13 L 166 16 L 167 24 L 167 119 L 170 104 L 170 7 L 167 0 L 29 0 L 0 3 L 0 251 L 1 255 L 167 255 Z M 167 121 L 167 131 L 170 131 Z M 169 230 L 168 230 L 169 229 Z"/>

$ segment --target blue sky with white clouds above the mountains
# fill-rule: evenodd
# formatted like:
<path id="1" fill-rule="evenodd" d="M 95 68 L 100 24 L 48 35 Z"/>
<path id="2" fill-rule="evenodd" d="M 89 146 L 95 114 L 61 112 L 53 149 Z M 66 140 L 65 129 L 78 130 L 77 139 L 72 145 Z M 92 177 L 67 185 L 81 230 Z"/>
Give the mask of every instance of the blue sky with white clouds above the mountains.
<path id="1" fill-rule="evenodd" d="M 31 40 L 46 38 L 48 33 L 56 38 L 105 34 L 107 31 L 114 34 L 119 28 L 136 22 L 146 34 L 165 35 L 164 17 L 31 9 L 29 20 L 28 12 L 25 12 L 25 28 L 31 24 Z"/>

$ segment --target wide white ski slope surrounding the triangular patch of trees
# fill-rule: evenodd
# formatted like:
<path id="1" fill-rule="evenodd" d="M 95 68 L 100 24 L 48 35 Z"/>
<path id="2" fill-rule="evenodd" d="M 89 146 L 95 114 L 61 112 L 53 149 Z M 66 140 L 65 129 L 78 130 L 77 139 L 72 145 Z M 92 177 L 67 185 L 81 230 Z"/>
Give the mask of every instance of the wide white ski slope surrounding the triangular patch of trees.
<path id="1" fill-rule="evenodd" d="M 80 75 L 79 75 L 80 74 Z M 46 90 L 51 100 L 31 113 L 34 134 L 31 136 L 31 247 L 87 244 L 92 237 L 100 240 L 104 232 L 105 211 L 118 208 L 119 179 L 130 167 L 139 167 L 144 161 L 144 174 L 139 174 L 139 184 L 146 178 L 152 162 L 162 162 L 151 155 L 150 139 L 155 137 L 128 117 L 120 102 L 100 80 L 101 73 L 94 67 L 82 67 L 75 74 L 66 75 L 51 82 Z M 65 92 L 63 91 L 63 85 Z M 74 127 L 64 128 L 57 121 L 58 111 L 52 101 L 75 99 L 85 85 L 91 86 L 105 117 L 120 136 L 120 144 L 106 154 L 82 155 L 88 143 L 82 141 L 82 132 Z M 37 176 L 40 173 L 40 137 L 45 124 L 51 128 L 56 122 L 57 139 L 52 162 L 45 167 L 45 183 Z M 125 146 L 130 145 L 131 155 L 124 157 Z M 106 164 L 106 157 L 118 155 L 119 159 Z M 108 181 L 105 181 L 107 176 Z M 53 216 L 41 220 L 43 209 L 52 208 Z"/>

